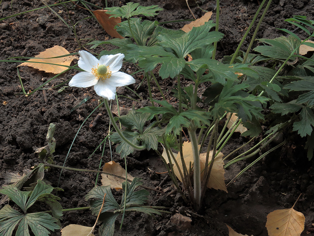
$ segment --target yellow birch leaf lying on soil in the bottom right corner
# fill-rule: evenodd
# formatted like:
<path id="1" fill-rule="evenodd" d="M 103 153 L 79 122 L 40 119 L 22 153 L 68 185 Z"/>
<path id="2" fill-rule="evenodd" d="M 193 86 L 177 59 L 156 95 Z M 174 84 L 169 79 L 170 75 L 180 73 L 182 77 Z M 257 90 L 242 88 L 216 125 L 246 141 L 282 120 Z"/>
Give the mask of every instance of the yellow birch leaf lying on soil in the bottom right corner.
<path id="1" fill-rule="evenodd" d="M 292 207 L 270 212 L 266 228 L 269 236 L 300 236 L 304 230 L 304 223 L 304 215 Z"/>

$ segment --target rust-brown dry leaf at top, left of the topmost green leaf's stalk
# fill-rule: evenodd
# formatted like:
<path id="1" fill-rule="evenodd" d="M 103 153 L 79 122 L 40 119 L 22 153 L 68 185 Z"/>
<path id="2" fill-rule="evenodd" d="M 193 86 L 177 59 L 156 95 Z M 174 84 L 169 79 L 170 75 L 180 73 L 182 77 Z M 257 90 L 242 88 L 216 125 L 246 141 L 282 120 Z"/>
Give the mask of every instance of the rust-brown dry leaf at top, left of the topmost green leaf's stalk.
<path id="1" fill-rule="evenodd" d="M 111 14 L 106 13 L 107 10 L 95 10 L 93 11 L 97 21 L 103 27 L 107 34 L 113 38 L 124 38 L 115 29 L 116 25 L 121 23 L 121 17 L 111 17 Z"/>

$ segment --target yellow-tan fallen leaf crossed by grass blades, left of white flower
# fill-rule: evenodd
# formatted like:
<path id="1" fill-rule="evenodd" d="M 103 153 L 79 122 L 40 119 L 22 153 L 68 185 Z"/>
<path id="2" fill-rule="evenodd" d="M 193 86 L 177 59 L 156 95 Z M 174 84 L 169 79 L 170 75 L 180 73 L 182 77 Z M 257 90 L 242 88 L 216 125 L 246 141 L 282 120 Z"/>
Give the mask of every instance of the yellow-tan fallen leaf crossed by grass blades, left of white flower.
<path id="1" fill-rule="evenodd" d="M 67 67 L 62 65 L 71 65 L 71 62 L 75 57 L 73 56 L 66 56 L 66 57 L 59 57 L 69 54 L 69 52 L 62 48 L 61 46 L 54 46 L 52 48 L 48 48 L 45 51 L 39 53 L 39 55 L 35 56 L 38 59 L 29 59 L 26 62 L 23 62 L 21 65 L 27 65 L 38 70 L 43 70 L 47 73 L 59 74 L 62 71 L 66 70 Z M 51 57 L 59 57 L 59 58 L 51 58 Z M 43 63 L 33 63 L 28 61 L 36 61 L 36 62 L 44 62 L 44 63 L 53 63 L 58 65 L 50 65 L 50 64 L 43 64 Z"/>

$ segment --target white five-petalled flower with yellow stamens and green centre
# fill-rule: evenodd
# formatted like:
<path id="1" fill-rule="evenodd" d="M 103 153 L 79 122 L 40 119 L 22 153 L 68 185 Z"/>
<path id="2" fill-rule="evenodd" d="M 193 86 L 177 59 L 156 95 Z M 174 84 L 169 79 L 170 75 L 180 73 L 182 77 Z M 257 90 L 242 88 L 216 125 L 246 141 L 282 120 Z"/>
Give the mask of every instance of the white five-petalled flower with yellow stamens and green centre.
<path id="1" fill-rule="evenodd" d="M 99 96 L 110 100 L 115 99 L 116 87 L 135 83 L 132 76 L 119 71 L 124 54 L 104 55 L 99 60 L 86 51 L 78 54 L 78 66 L 85 71 L 73 76 L 69 86 L 86 88 L 94 85 Z"/>

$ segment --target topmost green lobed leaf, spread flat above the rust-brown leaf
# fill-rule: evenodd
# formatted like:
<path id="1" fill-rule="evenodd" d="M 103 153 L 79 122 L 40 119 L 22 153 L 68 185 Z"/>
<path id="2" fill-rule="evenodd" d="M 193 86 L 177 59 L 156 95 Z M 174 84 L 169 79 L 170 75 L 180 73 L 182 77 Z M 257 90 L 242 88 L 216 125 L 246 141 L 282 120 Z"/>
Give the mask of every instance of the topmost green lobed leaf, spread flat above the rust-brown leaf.
<path id="1" fill-rule="evenodd" d="M 112 14 L 111 17 L 131 18 L 135 15 L 154 16 L 157 15 L 156 11 L 163 10 L 162 8 L 152 5 L 148 7 L 139 6 L 139 3 L 127 3 L 122 7 L 108 7 L 107 13 Z"/>

